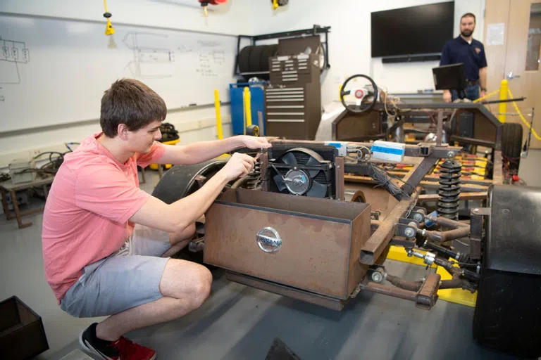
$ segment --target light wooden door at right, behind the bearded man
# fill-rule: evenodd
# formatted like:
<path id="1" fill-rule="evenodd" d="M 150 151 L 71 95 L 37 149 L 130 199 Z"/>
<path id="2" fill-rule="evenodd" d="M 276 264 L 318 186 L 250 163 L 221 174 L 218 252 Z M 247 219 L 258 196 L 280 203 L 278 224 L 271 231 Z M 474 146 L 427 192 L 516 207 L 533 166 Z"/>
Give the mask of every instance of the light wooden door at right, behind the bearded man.
<path id="1" fill-rule="evenodd" d="M 490 27 L 502 23 L 504 41 L 499 44 L 491 38 Z M 517 105 L 528 123 L 532 108 L 537 108 L 533 128 L 541 136 L 541 0 L 487 0 L 485 34 L 487 89 L 494 91 L 502 79 L 509 79 L 513 97 L 526 97 Z M 493 113 L 498 112 L 497 106 L 490 108 Z M 506 113 L 516 113 L 512 103 L 508 103 Z M 526 140 L 529 129 L 520 117 L 507 116 L 506 122 L 523 124 L 523 141 Z M 531 148 L 541 148 L 541 141 L 533 135 Z"/>

